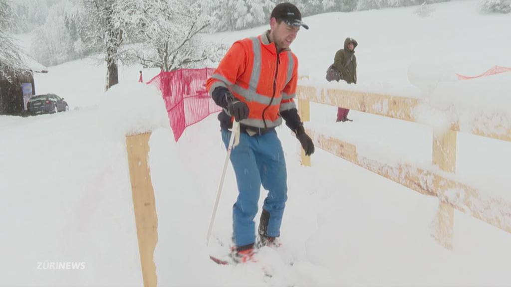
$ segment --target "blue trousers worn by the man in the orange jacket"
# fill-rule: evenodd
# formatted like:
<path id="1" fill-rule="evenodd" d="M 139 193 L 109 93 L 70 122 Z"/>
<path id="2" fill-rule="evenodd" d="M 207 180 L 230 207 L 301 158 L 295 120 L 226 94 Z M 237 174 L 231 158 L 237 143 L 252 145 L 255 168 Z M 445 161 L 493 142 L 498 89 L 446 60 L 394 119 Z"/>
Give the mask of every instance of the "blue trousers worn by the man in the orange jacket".
<path id="1" fill-rule="evenodd" d="M 222 129 L 227 148 L 231 132 Z M 268 190 L 263 208 L 270 214 L 268 236 L 280 236 L 287 201 L 287 171 L 282 143 L 275 130 L 259 136 L 242 132 L 240 143 L 230 154 L 238 183 L 238 199 L 233 206 L 236 246 L 255 243 L 254 217 L 258 211 L 261 184 Z"/>

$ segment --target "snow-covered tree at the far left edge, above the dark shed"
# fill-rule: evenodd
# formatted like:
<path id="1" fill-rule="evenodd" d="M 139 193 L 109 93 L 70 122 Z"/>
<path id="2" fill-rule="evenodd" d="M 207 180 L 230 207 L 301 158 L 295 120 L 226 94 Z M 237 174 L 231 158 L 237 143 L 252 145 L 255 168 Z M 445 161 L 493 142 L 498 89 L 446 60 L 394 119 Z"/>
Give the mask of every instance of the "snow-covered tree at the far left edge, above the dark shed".
<path id="1" fill-rule="evenodd" d="M 26 69 L 20 47 L 14 42 L 11 31 L 16 29 L 13 3 L 0 0 L 0 78 L 9 78 L 8 71 Z"/>

